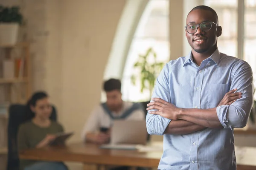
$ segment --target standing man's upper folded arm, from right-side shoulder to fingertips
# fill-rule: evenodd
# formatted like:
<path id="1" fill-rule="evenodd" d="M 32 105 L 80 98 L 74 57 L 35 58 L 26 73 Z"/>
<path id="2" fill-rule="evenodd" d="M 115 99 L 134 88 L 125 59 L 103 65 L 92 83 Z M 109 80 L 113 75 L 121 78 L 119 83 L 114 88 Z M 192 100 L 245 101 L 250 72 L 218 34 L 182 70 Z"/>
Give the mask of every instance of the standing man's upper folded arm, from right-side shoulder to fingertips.
<path id="1" fill-rule="evenodd" d="M 242 128 L 246 125 L 253 104 L 252 70 L 247 62 L 236 67 L 231 74 L 231 87 L 237 88 L 242 96 L 231 105 L 219 105 L 210 109 L 177 108 L 164 99 L 153 98 L 154 111 L 149 113 L 167 119 L 182 119 L 210 128 Z"/>

